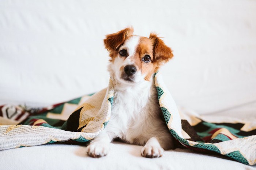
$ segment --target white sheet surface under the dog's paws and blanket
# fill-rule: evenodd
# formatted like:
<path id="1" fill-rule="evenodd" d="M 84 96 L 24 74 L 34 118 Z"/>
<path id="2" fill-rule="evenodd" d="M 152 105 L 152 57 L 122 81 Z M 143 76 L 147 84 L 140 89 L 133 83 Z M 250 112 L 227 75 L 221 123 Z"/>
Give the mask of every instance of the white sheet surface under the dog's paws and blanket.
<path id="1" fill-rule="evenodd" d="M 252 170 L 247 166 L 231 161 L 223 156 L 195 153 L 187 149 L 165 151 L 161 158 L 140 156 L 142 146 L 114 142 L 106 157 L 90 158 L 84 146 L 48 144 L 0 151 L 0 169 L 147 169 L 147 170 Z"/>

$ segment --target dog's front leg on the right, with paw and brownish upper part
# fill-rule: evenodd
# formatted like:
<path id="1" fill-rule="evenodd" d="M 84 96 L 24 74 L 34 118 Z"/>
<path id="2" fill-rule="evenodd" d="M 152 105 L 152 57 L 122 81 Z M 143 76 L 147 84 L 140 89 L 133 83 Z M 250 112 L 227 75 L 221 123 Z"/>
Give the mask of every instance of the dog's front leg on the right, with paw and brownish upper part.
<path id="1" fill-rule="evenodd" d="M 163 155 L 163 148 L 173 149 L 172 137 L 152 137 L 141 150 L 141 155 L 146 158 L 159 158 Z"/>

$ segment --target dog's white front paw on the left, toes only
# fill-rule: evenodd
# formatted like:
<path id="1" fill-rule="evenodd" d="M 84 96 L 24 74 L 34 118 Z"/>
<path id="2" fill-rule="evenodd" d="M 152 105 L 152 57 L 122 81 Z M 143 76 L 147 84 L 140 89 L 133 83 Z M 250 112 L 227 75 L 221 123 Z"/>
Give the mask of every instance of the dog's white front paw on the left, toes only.
<path id="1" fill-rule="evenodd" d="M 108 154 L 109 146 L 102 143 L 91 143 L 86 150 L 90 157 L 100 158 Z"/>

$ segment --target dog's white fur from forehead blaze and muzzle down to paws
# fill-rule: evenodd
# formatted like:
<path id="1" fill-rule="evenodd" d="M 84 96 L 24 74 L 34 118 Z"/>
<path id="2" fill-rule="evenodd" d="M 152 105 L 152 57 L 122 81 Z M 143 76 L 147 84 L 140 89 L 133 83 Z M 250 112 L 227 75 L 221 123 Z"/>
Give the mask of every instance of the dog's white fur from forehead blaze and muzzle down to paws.
<path id="1" fill-rule="evenodd" d="M 87 146 L 91 157 L 108 154 L 109 143 L 117 137 L 128 143 L 144 145 L 141 150 L 144 157 L 161 157 L 163 150 L 173 149 L 172 135 L 161 116 L 154 79 L 145 80 L 140 70 L 135 73 L 133 82 L 121 78 L 121 68 L 135 64 L 130 58 L 138 43 L 139 36 L 126 40 L 120 50 L 126 49 L 129 56 L 124 59 L 118 54 L 108 66 L 114 83 L 111 118 L 105 129 Z"/>

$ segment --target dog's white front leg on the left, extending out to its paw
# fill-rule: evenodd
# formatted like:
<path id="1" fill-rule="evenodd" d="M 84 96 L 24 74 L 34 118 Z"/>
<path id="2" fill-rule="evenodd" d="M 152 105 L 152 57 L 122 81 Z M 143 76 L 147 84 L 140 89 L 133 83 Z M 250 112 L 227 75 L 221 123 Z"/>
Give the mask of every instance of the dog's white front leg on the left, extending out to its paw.
<path id="1" fill-rule="evenodd" d="M 87 154 L 93 158 L 100 158 L 108 154 L 109 143 L 112 141 L 111 135 L 109 135 L 105 130 L 103 130 L 97 137 L 91 141 L 87 146 Z"/>

